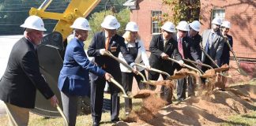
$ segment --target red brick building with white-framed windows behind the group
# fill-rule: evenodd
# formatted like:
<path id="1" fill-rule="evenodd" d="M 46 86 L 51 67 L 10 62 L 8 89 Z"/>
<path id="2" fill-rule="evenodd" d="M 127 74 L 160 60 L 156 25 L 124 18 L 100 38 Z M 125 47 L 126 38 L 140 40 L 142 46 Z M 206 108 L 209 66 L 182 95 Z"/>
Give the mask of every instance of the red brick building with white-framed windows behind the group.
<path id="1" fill-rule="evenodd" d="M 130 20 L 137 22 L 139 34 L 149 49 L 152 35 L 159 34 L 159 26 L 152 16 L 166 13 L 168 6 L 162 0 L 129 0 Z M 171 15 L 171 14 L 170 14 Z M 254 0 L 201 0 L 201 31 L 210 28 L 214 17 L 228 20 L 232 24 L 229 34 L 234 39 L 234 50 L 238 57 L 256 58 L 256 2 Z M 199 33 L 201 34 L 201 32 Z"/>

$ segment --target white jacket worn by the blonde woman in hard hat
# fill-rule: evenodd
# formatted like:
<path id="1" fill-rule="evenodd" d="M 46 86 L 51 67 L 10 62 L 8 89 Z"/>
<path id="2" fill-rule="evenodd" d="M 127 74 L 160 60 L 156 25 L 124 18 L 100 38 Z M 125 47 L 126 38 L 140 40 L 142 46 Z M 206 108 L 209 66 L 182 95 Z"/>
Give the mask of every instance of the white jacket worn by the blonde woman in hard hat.
<path id="1" fill-rule="evenodd" d="M 125 42 L 126 45 L 128 42 Z M 146 54 L 145 46 L 141 40 L 135 40 L 135 43 L 137 43 L 137 57 L 135 58 L 135 63 L 140 64 L 140 65 L 149 65 L 149 58 Z M 119 59 L 122 61 L 126 60 L 123 58 L 122 53 L 119 53 Z M 121 72 L 131 72 L 129 69 L 127 69 L 124 65 L 120 64 L 120 69 Z M 144 68 L 141 68 L 137 66 L 138 71 L 144 70 Z"/>

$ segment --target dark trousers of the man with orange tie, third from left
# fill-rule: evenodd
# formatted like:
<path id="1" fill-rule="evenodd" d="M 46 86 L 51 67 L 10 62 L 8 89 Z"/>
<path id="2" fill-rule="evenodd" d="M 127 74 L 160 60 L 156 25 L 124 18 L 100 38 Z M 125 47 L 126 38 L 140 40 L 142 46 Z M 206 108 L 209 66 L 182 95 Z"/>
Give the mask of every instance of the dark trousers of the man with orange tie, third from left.
<path id="1" fill-rule="evenodd" d="M 113 72 L 113 71 L 112 71 Z M 111 72 L 109 72 L 111 73 Z M 121 82 L 121 73 L 111 73 L 117 82 Z M 103 102 L 104 102 L 104 87 L 106 80 L 96 75 L 91 74 L 91 106 L 92 106 L 92 120 L 100 122 Z M 96 79 L 95 79 L 96 78 Z M 109 83 L 109 82 L 108 82 Z M 119 117 L 120 98 L 118 96 L 119 88 L 114 83 L 109 83 L 111 92 L 111 120 L 116 120 Z"/>

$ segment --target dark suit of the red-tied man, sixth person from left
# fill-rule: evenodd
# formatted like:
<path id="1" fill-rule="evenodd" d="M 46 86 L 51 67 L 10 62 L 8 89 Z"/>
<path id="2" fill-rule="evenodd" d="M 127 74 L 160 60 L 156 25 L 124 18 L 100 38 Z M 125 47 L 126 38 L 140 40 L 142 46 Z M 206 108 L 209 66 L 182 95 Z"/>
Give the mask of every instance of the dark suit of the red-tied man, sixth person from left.
<path id="1" fill-rule="evenodd" d="M 182 45 L 183 45 L 183 54 L 185 59 L 190 59 L 193 61 L 200 60 L 200 57 L 198 56 L 198 52 L 195 50 L 195 46 L 193 45 L 192 39 L 190 37 L 185 36 L 182 39 Z M 190 63 L 186 63 L 187 65 L 190 65 Z M 178 67 L 181 69 L 181 67 Z M 189 83 L 191 84 L 191 78 L 188 78 Z M 177 97 L 179 100 L 184 100 L 186 98 L 186 78 L 179 79 L 177 81 Z"/>

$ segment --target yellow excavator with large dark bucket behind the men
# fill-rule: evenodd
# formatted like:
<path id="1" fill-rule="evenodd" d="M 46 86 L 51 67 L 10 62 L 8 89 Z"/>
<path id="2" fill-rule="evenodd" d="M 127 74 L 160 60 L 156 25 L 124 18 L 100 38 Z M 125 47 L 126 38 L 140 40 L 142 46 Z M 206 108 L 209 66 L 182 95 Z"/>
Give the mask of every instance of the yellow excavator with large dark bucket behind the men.
<path id="1" fill-rule="evenodd" d="M 58 75 L 62 69 L 66 39 L 72 32 L 70 26 L 77 17 L 87 17 L 92 12 L 92 9 L 99 4 L 100 0 L 71 0 L 64 13 L 46 12 L 45 10 L 51 2 L 52 0 L 45 0 L 38 9 L 31 8 L 29 15 L 36 15 L 43 19 L 58 20 L 54 30 L 43 37 L 42 44 L 38 47 L 38 57 L 40 71 L 58 97 L 59 104 L 61 104 L 61 97 L 58 91 Z M 78 106 L 81 108 L 80 111 L 90 113 L 88 98 L 81 98 Z M 32 112 L 44 117 L 61 116 L 58 110 L 52 107 L 40 92 L 36 94 L 36 108 L 32 109 Z"/>

